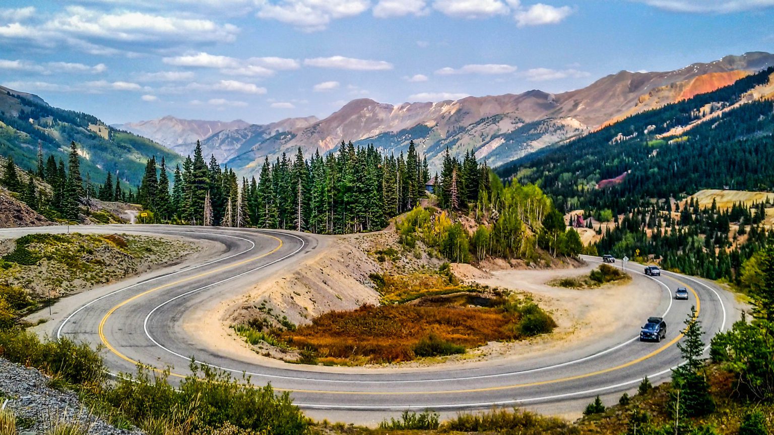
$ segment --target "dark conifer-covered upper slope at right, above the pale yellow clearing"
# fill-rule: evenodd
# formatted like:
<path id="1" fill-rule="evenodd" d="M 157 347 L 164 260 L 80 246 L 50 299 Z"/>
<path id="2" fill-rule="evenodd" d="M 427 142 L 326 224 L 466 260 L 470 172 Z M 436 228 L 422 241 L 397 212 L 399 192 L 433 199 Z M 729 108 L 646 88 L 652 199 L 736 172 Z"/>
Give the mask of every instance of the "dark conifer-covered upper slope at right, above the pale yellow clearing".
<path id="1" fill-rule="evenodd" d="M 771 84 L 772 73 L 769 68 L 717 91 L 634 115 L 516 160 L 497 173 L 538 183 L 567 210 L 611 207 L 623 212 L 645 198 L 704 188 L 769 189 L 774 186 L 774 103 L 738 103 L 750 98 L 745 94 L 753 88 Z M 731 109 L 719 113 L 725 108 Z M 717 117 L 679 133 L 677 128 L 712 114 Z M 623 174 L 622 182 L 600 188 L 603 180 Z"/>

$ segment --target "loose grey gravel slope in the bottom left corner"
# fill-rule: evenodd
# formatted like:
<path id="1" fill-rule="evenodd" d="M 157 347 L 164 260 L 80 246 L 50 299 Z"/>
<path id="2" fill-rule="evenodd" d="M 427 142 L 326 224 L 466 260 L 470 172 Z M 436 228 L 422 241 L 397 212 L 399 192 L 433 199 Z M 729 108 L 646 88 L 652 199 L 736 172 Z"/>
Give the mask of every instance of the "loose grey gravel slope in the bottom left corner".
<path id="1" fill-rule="evenodd" d="M 138 435 L 105 423 L 78 400 L 74 392 L 49 387 L 46 378 L 34 368 L 25 368 L 0 358 L 0 406 L 16 415 L 19 435 L 44 435 L 56 423 L 80 423 L 96 435 Z"/>

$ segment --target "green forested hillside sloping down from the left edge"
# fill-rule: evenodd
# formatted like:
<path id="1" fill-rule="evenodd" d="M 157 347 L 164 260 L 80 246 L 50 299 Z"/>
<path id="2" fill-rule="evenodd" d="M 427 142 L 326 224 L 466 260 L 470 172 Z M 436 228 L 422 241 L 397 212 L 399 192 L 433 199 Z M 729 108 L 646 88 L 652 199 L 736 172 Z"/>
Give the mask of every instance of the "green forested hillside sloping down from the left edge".
<path id="1" fill-rule="evenodd" d="M 146 159 L 164 157 L 180 163 L 180 156 L 149 139 L 104 125 L 98 118 L 54 108 L 40 98 L 0 87 L 0 155 L 12 157 L 25 170 L 34 170 L 41 148 L 55 159 L 67 159 L 76 142 L 84 157 L 84 180 L 103 183 L 108 173 L 136 185 Z"/>

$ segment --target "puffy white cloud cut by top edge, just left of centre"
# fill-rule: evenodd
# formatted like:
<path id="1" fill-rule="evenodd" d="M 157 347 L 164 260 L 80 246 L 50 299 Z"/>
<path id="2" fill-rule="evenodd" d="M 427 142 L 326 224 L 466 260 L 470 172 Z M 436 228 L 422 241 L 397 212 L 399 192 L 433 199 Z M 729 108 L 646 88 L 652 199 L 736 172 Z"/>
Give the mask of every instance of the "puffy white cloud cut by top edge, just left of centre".
<path id="1" fill-rule="evenodd" d="M 257 0 L 262 19 L 286 22 L 305 32 L 326 29 L 333 19 L 360 15 L 368 0 Z"/>

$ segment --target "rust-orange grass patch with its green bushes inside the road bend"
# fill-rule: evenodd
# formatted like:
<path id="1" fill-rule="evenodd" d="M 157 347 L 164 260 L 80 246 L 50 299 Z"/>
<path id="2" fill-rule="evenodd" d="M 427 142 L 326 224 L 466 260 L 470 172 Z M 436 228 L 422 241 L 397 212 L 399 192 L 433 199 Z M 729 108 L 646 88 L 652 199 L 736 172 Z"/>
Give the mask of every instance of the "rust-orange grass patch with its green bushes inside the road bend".
<path id="1" fill-rule="evenodd" d="M 440 297 L 440 296 L 430 296 Z M 483 299 L 483 298 L 482 298 Z M 280 335 L 289 346 L 313 351 L 313 364 L 392 363 L 464 353 L 489 341 L 545 334 L 553 319 L 531 300 L 513 295 L 486 299 L 489 307 L 419 303 L 364 305 L 324 313 L 312 324 Z M 299 361 L 303 362 L 303 361 Z"/>

